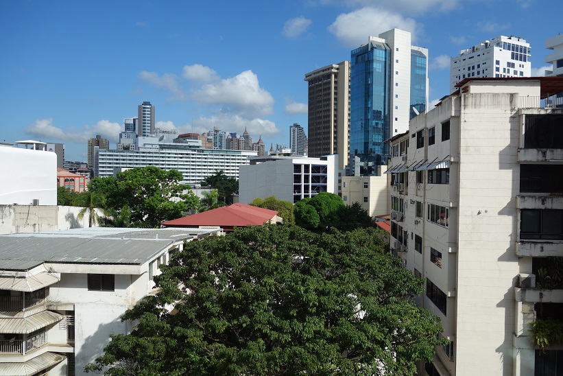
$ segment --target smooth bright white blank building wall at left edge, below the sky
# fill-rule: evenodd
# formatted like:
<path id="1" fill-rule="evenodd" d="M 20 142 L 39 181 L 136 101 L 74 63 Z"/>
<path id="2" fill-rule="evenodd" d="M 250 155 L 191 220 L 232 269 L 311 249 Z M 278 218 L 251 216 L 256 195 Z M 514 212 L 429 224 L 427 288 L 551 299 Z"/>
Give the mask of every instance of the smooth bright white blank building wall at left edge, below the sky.
<path id="1" fill-rule="evenodd" d="M 0 147 L 0 204 L 57 204 L 57 154 Z"/>

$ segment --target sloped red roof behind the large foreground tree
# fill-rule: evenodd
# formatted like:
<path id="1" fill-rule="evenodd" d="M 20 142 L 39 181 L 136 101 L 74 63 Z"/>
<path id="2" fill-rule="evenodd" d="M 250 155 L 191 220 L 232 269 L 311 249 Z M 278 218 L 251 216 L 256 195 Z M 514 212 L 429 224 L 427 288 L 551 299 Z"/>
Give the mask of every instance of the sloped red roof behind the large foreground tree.
<path id="1" fill-rule="evenodd" d="M 272 220 L 278 212 L 247 204 L 232 204 L 228 207 L 211 209 L 184 218 L 162 222 L 166 227 L 184 226 L 248 226 L 261 225 Z"/>

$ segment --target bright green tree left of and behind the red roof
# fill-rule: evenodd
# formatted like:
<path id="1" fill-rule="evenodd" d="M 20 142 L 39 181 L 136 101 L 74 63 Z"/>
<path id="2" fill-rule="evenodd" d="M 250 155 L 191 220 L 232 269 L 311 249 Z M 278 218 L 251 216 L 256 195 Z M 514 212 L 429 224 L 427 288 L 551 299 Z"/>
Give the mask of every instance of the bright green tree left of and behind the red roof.
<path id="1" fill-rule="evenodd" d="M 189 209 L 197 208 L 199 199 L 181 184 L 182 174 L 175 169 L 165 171 L 154 166 L 135 167 L 117 174 L 117 178 L 95 178 L 90 189 L 108 198 L 108 207 L 119 213 L 121 208 L 131 211 L 134 226 L 156 227 L 165 220 L 182 217 Z"/>

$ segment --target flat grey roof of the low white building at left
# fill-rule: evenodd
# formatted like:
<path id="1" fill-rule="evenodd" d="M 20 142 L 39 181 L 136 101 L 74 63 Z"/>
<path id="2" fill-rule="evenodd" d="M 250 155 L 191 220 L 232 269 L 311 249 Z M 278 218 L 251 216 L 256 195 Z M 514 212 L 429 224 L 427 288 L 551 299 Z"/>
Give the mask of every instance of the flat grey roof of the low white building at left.
<path id="1" fill-rule="evenodd" d="M 200 228 L 76 228 L 0 235 L 0 269 L 29 270 L 44 262 L 141 265 L 173 242 L 215 233 Z"/>

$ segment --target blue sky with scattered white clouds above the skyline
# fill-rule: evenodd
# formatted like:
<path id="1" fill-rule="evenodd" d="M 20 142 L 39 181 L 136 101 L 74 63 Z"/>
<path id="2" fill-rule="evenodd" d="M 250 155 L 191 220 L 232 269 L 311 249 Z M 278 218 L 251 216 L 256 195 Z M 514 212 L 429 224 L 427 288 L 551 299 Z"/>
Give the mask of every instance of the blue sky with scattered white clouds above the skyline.
<path id="1" fill-rule="evenodd" d="M 540 0 L 0 1 L 0 141 L 112 148 L 137 105 L 179 132 L 248 128 L 289 145 L 307 128 L 304 74 L 350 60 L 368 36 L 398 27 L 429 49 L 431 101 L 448 94 L 449 58 L 499 35 L 531 45 L 563 32 L 563 3 Z"/>

